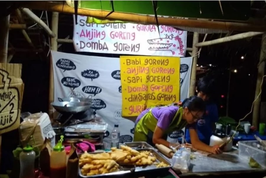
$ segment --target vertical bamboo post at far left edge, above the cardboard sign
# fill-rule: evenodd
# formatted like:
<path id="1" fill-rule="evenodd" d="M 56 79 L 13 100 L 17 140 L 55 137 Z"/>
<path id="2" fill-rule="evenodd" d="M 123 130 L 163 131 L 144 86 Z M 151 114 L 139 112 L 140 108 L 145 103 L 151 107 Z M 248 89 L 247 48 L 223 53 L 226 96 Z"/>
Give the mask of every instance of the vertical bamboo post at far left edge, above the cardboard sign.
<path id="1" fill-rule="evenodd" d="M 0 63 L 7 63 L 7 48 L 9 35 L 9 19 L 10 15 L 0 18 Z M 2 135 L 0 134 L 0 164 L 1 164 L 1 146 Z"/>

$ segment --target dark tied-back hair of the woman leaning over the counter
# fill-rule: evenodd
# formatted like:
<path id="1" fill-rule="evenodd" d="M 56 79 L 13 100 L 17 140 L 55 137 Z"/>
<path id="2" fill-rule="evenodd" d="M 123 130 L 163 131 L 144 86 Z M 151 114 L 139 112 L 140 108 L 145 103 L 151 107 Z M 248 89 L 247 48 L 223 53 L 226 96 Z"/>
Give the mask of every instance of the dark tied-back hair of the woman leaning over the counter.
<path id="1" fill-rule="evenodd" d="M 197 96 L 192 96 L 184 99 L 182 107 L 187 107 L 190 111 L 203 111 L 205 112 L 205 102 Z"/>

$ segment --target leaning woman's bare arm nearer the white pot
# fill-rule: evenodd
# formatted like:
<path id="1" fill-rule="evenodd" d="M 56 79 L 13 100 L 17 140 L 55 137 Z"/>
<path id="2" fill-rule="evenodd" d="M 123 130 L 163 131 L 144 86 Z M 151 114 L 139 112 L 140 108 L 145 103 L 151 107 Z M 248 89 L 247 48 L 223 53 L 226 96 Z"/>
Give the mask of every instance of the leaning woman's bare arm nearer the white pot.
<path id="1" fill-rule="evenodd" d="M 192 146 L 198 150 L 202 150 L 202 151 L 207 151 L 210 153 L 214 153 L 214 154 L 219 154 L 222 153 L 222 151 L 219 149 L 219 145 L 215 145 L 215 146 L 209 146 L 206 145 L 205 143 L 201 142 L 197 131 L 195 129 L 189 129 L 189 135 L 190 135 L 190 140 L 192 143 Z"/>

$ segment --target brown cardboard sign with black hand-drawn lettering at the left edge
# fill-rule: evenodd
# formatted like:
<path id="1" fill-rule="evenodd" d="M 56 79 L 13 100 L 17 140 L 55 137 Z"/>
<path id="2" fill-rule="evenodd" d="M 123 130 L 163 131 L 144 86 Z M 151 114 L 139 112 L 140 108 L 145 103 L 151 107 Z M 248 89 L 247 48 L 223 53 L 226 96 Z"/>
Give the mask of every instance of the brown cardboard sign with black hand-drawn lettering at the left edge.
<path id="1" fill-rule="evenodd" d="M 17 129 L 24 92 L 22 64 L 0 63 L 0 135 Z"/>

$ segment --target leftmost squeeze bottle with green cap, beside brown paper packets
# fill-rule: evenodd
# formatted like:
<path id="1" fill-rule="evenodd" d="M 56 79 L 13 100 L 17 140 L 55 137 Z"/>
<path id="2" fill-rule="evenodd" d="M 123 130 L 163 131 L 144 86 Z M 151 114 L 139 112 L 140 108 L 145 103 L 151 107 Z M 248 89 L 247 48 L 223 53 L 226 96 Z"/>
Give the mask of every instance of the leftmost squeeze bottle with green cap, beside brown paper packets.
<path id="1" fill-rule="evenodd" d="M 31 146 L 24 147 L 20 153 L 20 178 L 34 178 L 35 152 Z"/>

